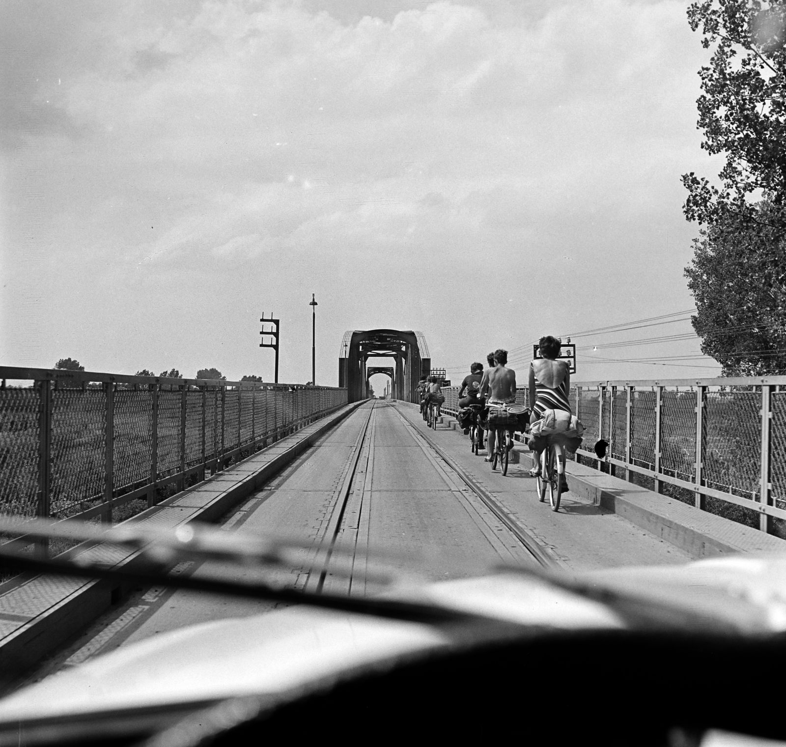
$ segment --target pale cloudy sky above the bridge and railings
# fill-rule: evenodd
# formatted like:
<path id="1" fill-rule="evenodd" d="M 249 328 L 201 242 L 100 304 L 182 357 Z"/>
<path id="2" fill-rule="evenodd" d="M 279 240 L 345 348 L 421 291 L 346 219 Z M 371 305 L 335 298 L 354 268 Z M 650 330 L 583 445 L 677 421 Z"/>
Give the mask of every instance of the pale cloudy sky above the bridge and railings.
<path id="1" fill-rule="evenodd" d="M 693 307 L 684 2 L 3 0 L 0 50 L 3 365 L 270 381 L 272 312 L 304 383 L 314 293 L 318 384 L 378 327 L 452 378 L 569 333 L 575 381 L 719 371 L 592 349 L 687 314 L 575 337 Z"/>

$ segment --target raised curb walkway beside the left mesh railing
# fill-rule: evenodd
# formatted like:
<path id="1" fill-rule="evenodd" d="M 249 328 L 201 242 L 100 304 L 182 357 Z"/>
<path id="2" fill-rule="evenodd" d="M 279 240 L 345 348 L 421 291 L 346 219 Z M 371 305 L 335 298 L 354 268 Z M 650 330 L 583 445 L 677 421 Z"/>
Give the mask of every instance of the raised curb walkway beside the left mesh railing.
<path id="1" fill-rule="evenodd" d="M 325 432 L 354 412 L 362 402 L 349 404 L 298 432 L 278 440 L 243 462 L 171 496 L 128 520 L 174 528 L 189 521 L 217 521 L 246 496 L 281 472 L 286 465 L 306 451 Z M 255 464 L 257 462 L 258 464 Z M 126 523 L 126 522 L 123 522 Z M 80 547 L 70 550 L 79 554 Z M 118 557 L 117 565 L 133 568 L 141 562 L 137 553 Z M 6 587 L 5 589 L 3 587 Z M 0 638 L 0 686 L 6 685 L 68 638 L 83 630 L 97 616 L 119 601 L 127 590 L 110 580 L 64 579 L 53 576 L 22 576 L 0 587 L 0 620 L 24 617 L 13 613 L 24 602 L 41 607 L 39 613 Z M 8 624 L 8 623 L 6 623 Z"/>

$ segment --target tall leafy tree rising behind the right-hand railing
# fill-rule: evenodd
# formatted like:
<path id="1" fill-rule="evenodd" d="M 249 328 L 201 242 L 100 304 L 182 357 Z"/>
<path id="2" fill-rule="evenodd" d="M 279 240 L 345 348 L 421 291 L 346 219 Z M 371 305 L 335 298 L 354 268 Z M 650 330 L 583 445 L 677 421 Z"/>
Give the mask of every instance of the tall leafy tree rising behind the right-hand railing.
<path id="1" fill-rule="evenodd" d="M 693 328 L 724 374 L 786 367 L 786 0 L 701 0 L 688 20 L 712 50 L 696 101 L 719 186 L 694 173 L 685 217 L 704 226 L 685 269 Z"/>

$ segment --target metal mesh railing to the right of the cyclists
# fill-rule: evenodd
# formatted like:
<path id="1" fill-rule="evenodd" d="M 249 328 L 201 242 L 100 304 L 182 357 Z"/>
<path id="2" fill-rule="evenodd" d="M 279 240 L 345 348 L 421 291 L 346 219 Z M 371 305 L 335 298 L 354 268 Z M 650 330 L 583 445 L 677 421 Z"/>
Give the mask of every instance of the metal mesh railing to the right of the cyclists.
<path id="1" fill-rule="evenodd" d="M 443 389 L 443 411 L 456 414 L 458 388 Z M 786 519 L 786 377 L 572 382 L 571 406 L 586 426 L 584 445 L 608 442 L 601 462 L 759 515 Z M 516 401 L 528 404 L 527 387 Z"/>

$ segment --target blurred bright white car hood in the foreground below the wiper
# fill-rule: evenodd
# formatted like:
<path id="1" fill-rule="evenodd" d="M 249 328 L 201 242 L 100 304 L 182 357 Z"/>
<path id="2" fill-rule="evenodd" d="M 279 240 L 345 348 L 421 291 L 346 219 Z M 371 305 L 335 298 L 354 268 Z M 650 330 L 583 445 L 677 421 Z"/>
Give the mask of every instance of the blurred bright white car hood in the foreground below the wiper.
<path id="1" fill-rule="evenodd" d="M 599 590 L 606 602 L 591 598 Z M 392 595 L 484 616 L 490 626 L 496 620 L 562 631 L 630 627 L 608 601 L 616 595 L 652 609 L 653 620 L 668 620 L 664 608 L 683 610 L 760 635 L 786 630 L 786 557 L 733 556 L 553 580 L 499 572 Z M 277 694 L 455 645 L 444 627 L 293 606 L 121 647 L 6 697 L 0 722 Z"/>

